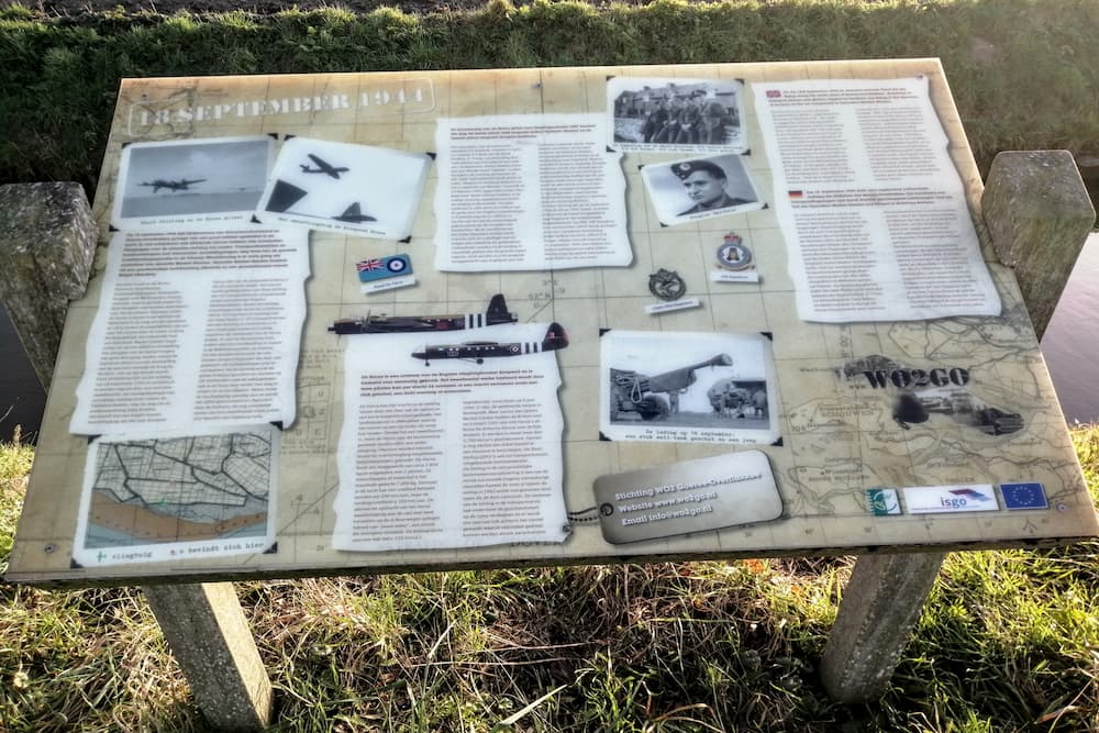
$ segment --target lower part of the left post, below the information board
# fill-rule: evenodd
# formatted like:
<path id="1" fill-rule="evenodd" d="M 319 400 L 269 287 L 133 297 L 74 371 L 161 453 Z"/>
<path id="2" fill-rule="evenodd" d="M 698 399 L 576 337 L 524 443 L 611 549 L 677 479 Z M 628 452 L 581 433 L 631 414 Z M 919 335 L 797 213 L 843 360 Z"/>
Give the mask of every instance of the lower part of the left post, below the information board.
<path id="1" fill-rule="evenodd" d="M 267 725 L 271 685 L 233 584 L 142 590 L 207 721 L 229 731 Z"/>

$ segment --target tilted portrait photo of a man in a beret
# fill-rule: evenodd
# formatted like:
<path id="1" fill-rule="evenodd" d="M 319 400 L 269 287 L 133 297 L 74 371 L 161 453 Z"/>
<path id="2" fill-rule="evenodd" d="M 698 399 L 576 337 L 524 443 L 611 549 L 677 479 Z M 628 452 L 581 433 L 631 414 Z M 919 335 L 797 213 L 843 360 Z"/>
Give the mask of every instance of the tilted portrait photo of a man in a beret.
<path id="1" fill-rule="evenodd" d="M 641 177 L 665 226 L 764 208 L 739 155 L 646 165 Z"/>

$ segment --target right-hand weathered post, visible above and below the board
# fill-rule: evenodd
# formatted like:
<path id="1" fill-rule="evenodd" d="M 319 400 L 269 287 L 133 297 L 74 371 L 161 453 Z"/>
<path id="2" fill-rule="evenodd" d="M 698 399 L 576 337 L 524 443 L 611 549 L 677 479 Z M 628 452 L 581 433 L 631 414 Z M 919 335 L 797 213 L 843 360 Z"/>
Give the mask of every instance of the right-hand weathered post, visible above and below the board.
<path id="1" fill-rule="evenodd" d="M 1096 213 L 1067 151 L 1000 153 L 981 199 L 997 255 L 1014 268 L 1041 338 Z M 887 689 L 946 556 L 863 555 L 821 660 L 829 695 L 866 702 Z"/>

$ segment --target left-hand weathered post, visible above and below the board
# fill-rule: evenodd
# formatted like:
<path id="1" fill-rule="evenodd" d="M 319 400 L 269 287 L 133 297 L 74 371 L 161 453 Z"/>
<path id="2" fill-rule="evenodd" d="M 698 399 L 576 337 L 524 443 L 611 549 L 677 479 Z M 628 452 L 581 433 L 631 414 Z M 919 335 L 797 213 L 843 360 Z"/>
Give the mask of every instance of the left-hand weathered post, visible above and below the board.
<path id="1" fill-rule="evenodd" d="M 79 184 L 0 186 L 0 302 L 47 390 L 98 236 Z M 266 725 L 270 681 L 232 584 L 147 587 L 145 597 L 207 719 L 227 730 Z"/>

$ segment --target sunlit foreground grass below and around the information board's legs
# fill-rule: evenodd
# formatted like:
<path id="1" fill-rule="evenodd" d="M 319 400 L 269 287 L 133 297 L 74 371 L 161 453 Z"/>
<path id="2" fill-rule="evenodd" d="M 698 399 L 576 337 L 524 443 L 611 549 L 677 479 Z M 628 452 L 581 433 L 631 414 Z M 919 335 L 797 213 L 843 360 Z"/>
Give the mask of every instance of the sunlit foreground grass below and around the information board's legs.
<path id="1" fill-rule="evenodd" d="M 1074 431 L 1099 490 L 1099 426 Z M 0 569 L 31 451 L 0 447 Z M 238 584 L 278 731 L 1099 730 L 1099 543 L 948 556 L 891 687 L 824 693 L 851 558 Z M 0 586 L 0 730 L 203 731 L 133 589 Z"/>

